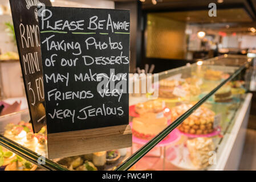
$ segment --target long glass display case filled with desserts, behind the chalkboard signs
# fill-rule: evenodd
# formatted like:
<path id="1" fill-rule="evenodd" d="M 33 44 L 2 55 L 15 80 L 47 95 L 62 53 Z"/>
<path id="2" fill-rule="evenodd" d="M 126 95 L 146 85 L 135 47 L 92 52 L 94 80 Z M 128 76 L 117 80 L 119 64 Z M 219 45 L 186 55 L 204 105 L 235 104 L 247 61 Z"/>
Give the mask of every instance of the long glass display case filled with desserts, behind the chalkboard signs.
<path id="1" fill-rule="evenodd" d="M 242 148 L 238 139 L 247 125 L 251 94 L 243 87 L 243 74 L 250 61 L 222 55 L 147 77 L 154 78 L 149 89 L 129 97 L 131 148 L 50 160 L 46 129 L 31 133 L 28 110 L 0 117 L 1 169 L 227 169 Z M 137 76 L 135 84 L 143 88 L 144 78 Z"/>

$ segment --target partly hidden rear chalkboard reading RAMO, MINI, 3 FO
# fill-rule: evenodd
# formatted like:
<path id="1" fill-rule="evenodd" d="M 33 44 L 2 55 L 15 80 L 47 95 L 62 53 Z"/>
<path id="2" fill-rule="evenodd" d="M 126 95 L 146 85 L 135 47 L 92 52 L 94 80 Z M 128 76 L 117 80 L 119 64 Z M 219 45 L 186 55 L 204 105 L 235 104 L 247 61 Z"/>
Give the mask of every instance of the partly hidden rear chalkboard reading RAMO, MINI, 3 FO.
<path id="1" fill-rule="evenodd" d="M 14 31 L 21 62 L 30 119 L 34 132 L 45 122 L 43 73 L 36 6 L 51 6 L 50 0 L 10 0 Z"/>

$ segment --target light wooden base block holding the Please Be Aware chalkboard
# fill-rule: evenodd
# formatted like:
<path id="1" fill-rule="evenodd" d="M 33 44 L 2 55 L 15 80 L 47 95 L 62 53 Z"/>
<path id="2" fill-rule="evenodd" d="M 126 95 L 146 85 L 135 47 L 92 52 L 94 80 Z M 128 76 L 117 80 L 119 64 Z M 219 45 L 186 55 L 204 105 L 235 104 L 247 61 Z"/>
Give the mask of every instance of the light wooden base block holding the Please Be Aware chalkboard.
<path id="1" fill-rule="evenodd" d="M 68 131 L 47 135 L 48 158 L 56 159 L 132 146 L 129 125 Z"/>

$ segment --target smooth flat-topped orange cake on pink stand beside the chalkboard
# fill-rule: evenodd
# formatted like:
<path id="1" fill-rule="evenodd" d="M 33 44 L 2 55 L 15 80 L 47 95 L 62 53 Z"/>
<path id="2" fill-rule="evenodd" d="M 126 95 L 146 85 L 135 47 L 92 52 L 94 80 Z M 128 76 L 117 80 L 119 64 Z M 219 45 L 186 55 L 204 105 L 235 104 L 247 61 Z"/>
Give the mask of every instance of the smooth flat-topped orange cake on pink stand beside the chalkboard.
<path id="1" fill-rule="evenodd" d="M 132 134 L 137 138 L 151 139 L 168 126 L 167 118 L 155 113 L 147 113 L 133 118 Z"/>

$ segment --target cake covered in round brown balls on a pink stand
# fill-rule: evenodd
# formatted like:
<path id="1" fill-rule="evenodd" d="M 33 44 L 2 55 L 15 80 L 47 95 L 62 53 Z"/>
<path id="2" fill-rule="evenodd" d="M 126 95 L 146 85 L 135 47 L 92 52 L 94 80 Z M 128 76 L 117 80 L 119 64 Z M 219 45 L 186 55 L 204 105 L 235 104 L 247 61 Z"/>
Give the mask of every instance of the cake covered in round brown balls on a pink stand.
<path id="1" fill-rule="evenodd" d="M 193 105 L 182 104 L 171 110 L 173 121 L 184 114 Z M 209 134 L 213 132 L 214 112 L 205 106 L 200 106 L 186 118 L 177 129 L 189 134 Z"/>

